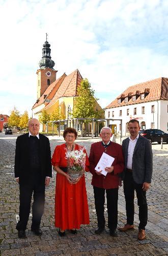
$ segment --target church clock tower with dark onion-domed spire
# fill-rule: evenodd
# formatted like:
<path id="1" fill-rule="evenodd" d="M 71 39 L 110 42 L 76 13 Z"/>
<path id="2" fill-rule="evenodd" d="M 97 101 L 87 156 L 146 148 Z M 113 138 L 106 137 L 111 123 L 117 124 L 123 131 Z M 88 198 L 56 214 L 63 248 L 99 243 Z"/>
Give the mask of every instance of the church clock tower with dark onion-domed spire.
<path id="1" fill-rule="evenodd" d="M 43 45 L 43 56 L 39 61 L 40 69 L 37 70 L 37 99 L 39 99 L 47 87 L 56 80 L 57 71 L 53 69 L 55 62 L 51 59 L 50 53 L 50 44 L 47 41 L 47 33 L 46 33 L 46 41 Z"/>

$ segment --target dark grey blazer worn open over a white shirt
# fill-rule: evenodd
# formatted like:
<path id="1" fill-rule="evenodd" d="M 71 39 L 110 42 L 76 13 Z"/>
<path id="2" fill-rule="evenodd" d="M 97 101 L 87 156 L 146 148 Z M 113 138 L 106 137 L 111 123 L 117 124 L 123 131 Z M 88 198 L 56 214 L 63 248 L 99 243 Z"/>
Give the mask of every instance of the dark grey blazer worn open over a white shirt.
<path id="1" fill-rule="evenodd" d="M 122 174 L 122 179 L 124 180 L 127 159 L 128 159 L 128 144 L 129 138 L 123 140 L 122 148 L 125 160 L 125 169 Z M 152 167 L 153 167 L 153 157 L 152 157 L 152 146 L 151 142 L 139 135 L 137 139 L 133 157 L 132 157 L 132 176 L 133 180 L 137 184 L 143 184 L 144 182 L 151 183 L 152 179 Z"/>

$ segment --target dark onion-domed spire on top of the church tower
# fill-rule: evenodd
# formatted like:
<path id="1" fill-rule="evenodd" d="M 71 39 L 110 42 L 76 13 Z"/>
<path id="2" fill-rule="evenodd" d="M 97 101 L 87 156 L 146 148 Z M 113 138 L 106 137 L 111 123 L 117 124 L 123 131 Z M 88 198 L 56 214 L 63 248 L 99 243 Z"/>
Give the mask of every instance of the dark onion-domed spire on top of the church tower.
<path id="1" fill-rule="evenodd" d="M 39 67 L 40 69 L 46 69 L 46 68 L 50 68 L 52 70 L 55 62 L 51 59 L 50 53 L 51 53 L 51 49 L 50 49 L 50 44 L 47 41 L 47 33 L 46 33 L 46 41 L 43 45 L 43 56 L 42 59 L 39 61 Z"/>

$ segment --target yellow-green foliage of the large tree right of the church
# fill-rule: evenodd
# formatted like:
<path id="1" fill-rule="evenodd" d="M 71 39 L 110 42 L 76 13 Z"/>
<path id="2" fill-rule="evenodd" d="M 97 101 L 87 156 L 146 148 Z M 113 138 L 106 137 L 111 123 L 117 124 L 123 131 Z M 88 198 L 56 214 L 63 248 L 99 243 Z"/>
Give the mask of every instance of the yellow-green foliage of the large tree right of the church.
<path id="1" fill-rule="evenodd" d="M 72 111 L 73 118 L 102 118 L 103 111 L 96 110 L 95 91 L 91 89 L 88 79 L 82 79 L 77 89 L 78 97 L 75 98 L 74 109 Z M 88 122 L 88 120 L 83 120 Z"/>

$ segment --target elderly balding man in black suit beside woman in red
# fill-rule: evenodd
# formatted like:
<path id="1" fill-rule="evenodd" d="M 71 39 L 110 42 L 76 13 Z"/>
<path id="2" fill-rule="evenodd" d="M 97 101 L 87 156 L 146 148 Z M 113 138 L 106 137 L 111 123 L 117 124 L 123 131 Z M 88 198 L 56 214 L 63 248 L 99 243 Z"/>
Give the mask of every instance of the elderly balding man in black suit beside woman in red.
<path id="1" fill-rule="evenodd" d="M 15 178 L 20 190 L 19 221 L 16 225 L 19 238 L 26 237 L 33 193 L 31 230 L 41 236 L 45 186 L 49 185 L 52 175 L 49 140 L 39 134 L 40 123 L 36 118 L 30 119 L 28 125 L 29 133 L 17 137 L 15 151 Z"/>

